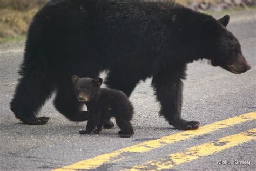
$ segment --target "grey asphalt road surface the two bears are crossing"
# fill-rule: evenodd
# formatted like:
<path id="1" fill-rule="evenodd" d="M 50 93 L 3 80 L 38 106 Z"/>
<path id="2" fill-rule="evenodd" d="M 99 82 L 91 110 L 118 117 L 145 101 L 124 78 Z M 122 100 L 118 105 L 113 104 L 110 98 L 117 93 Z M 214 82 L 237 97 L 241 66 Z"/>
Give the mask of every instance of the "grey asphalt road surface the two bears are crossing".
<path id="1" fill-rule="evenodd" d="M 190 64 L 187 80 L 184 81 L 182 115 L 186 120 L 197 120 L 201 122 L 201 125 L 207 126 L 217 121 L 256 111 L 256 12 L 231 18 L 228 29 L 239 39 L 242 51 L 252 65 L 252 69 L 244 74 L 235 75 L 219 67 L 207 65 L 207 61 Z M 155 102 L 153 90 L 150 87 L 151 79 L 140 83 L 130 97 L 135 108 L 132 121 L 135 134 L 132 138 L 119 138 L 117 126 L 111 130 L 103 130 L 98 135 L 80 135 L 78 131 L 85 128 L 86 122 L 75 123 L 67 120 L 55 110 L 52 100 L 46 103 L 40 113 L 40 116 L 51 117 L 47 125 L 21 124 L 10 111 L 9 102 L 17 84 L 17 69 L 22 61 L 22 49 L 23 47 L 9 49 L 2 47 L 0 49 L 0 170 L 56 169 L 99 155 L 113 154 L 112 152 L 118 149 L 158 140 L 163 136 L 172 137 L 182 132 L 172 129 L 164 118 L 158 116 L 159 104 Z M 252 115 L 255 116 L 255 113 Z M 96 157 L 93 162 L 99 163 L 89 168 L 130 169 L 155 159 L 168 160 L 170 154 L 181 153 L 187 148 L 204 145 L 211 141 L 215 141 L 214 144 L 222 148 L 222 143 L 217 143 L 218 139 L 253 129 L 255 124 L 255 118 L 242 123 L 235 122 L 231 126 L 179 142 L 159 143 L 161 147 L 155 145 L 150 151 L 143 152 L 143 149 L 139 149 L 139 152 L 124 152 L 110 161 L 105 161 L 107 155 L 104 155 L 103 160 L 96 160 L 98 159 Z M 202 127 L 194 133 L 199 134 L 199 131 L 207 130 Z M 191 157 L 184 156 L 186 161 L 176 163 L 170 168 L 176 170 L 255 170 L 255 134 L 250 134 L 250 136 L 252 140 L 238 136 L 232 142 L 238 140 L 245 140 L 245 142 L 230 146 L 230 148 L 219 147 L 212 154 L 199 156 L 191 161 L 187 160 L 192 159 Z M 210 152 L 210 146 L 204 152 Z M 234 163 L 230 166 L 219 165 L 218 160 L 250 161 L 250 166 L 248 164 L 234 165 Z M 71 168 L 74 169 L 77 166 Z M 79 165 L 77 168 L 85 169 L 87 165 Z M 148 169 L 150 168 L 156 169 L 156 165 L 151 165 Z"/>

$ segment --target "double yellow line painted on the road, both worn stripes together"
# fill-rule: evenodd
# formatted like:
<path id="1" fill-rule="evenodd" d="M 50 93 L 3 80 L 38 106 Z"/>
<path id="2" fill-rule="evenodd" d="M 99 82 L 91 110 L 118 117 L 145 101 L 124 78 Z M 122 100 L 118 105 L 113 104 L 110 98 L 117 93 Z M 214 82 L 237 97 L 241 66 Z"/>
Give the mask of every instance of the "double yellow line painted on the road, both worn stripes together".
<path id="1" fill-rule="evenodd" d="M 194 138 L 199 135 L 207 134 L 213 131 L 217 131 L 219 129 L 227 128 L 233 125 L 242 124 L 247 121 L 255 120 L 256 112 L 251 112 L 247 114 L 242 114 L 237 117 L 229 118 L 226 120 L 214 122 L 213 124 L 205 125 L 200 127 L 196 131 L 183 131 L 176 134 L 172 134 L 169 136 L 164 136 L 157 140 L 145 141 L 139 143 L 137 145 L 133 145 L 130 147 L 122 148 L 112 153 L 107 153 L 103 155 L 96 156 L 95 158 L 86 159 L 83 161 L 79 161 L 69 166 L 65 166 L 59 169 L 55 169 L 55 171 L 60 170 L 77 170 L 77 169 L 96 169 L 103 164 L 113 163 L 122 160 L 125 158 L 123 153 L 145 153 L 149 152 L 153 149 L 163 147 L 166 145 L 170 145 L 174 142 L 180 142 L 186 139 Z M 149 169 L 154 167 L 154 169 L 166 169 L 172 168 L 174 165 L 179 165 L 180 163 L 192 161 L 194 159 L 199 158 L 200 156 L 211 155 L 215 152 L 219 152 L 224 150 L 225 148 L 233 147 L 239 145 L 241 143 L 250 141 L 255 139 L 255 129 L 251 129 L 247 132 L 242 132 L 240 134 L 235 134 L 231 136 L 227 136 L 223 139 L 219 139 L 216 142 L 205 143 L 200 146 L 191 147 L 186 149 L 185 152 L 182 153 L 174 153 L 169 155 L 169 159 L 166 161 L 154 160 L 150 162 L 146 162 L 143 165 L 134 166 L 131 170 L 140 170 L 140 169 Z M 241 139 L 241 141 L 240 141 Z M 224 142 L 224 143 L 223 143 Z M 220 146 L 221 145 L 221 146 Z M 194 153 L 191 153 L 193 151 Z M 200 153 L 199 153 L 200 152 Z M 188 155 L 189 154 L 189 155 Z M 193 155 L 195 154 L 195 155 Z M 197 154 L 197 155 L 196 155 Z"/>

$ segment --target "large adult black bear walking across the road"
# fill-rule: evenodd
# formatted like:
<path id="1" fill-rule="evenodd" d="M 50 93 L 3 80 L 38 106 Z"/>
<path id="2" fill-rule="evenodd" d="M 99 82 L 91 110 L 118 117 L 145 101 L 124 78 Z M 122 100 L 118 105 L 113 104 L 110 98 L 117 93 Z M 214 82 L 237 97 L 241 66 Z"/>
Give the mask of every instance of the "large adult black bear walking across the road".
<path id="1" fill-rule="evenodd" d="M 159 114 L 177 129 L 197 129 L 199 122 L 181 118 L 187 63 L 205 58 L 233 73 L 250 69 L 228 22 L 173 1 L 50 1 L 30 26 L 11 110 L 26 124 L 46 124 L 36 114 L 56 90 L 57 110 L 86 120 L 70 78 L 109 70 L 106 84 L 128 96 L 153 77 Z"/>

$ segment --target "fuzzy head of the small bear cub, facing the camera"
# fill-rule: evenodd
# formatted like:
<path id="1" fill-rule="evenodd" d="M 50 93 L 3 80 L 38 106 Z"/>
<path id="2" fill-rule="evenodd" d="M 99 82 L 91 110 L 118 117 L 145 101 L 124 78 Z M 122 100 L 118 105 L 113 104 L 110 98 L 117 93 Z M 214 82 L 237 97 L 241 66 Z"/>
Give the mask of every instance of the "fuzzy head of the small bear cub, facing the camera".
<path id="1" fill-rule="evenodd" d="M 100 85 L 102 85 L 102 78 L 79 78 L 72 76 L 72 83 L 74 85 L 77 100 L 80 102 L 90 102 L 96 100 L 100 93 Z"/>

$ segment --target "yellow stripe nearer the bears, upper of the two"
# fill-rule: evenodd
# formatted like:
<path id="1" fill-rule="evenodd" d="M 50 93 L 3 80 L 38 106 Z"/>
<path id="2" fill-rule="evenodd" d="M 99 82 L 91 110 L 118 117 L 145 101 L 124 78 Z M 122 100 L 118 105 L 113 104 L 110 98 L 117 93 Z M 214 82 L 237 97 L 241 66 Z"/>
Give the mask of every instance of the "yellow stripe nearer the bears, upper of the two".
<path id="1" fill-rule="evenodd" d="M 174 143 L 174 142 L 180 142 L 180 141 L 183 141 L 186 139 L 194 138 L 198 135 L 207 134 L 207 133 L 210 133 L 213 131 L 217 131 L 219 129 L 223 129 L 223 128 L 233 126 L 236 124 L 242 124 L 244 122 L 254 120 L 254 119 L 256 119 L 256 112 L 242 114 L 237 117 L 229 118 L 226 120 L 214 122 L 213 124 L 202 126 L 198 130 L 179 132 L 176 134 L 164 136 L 164 137 L 156 139 L 156 140 L 145 141 L 145 142 L 139 143 L 137 145 L 122 148 L 122 149 L 119 149 L 119 150 L 111 152 L 111 153 L 99 155 L 94 158 L 79 161 L 72 165 L 64 166 L 59 169 L 55 169 L 55 171 L 76 170 L 76 169 L 95 169 L 103 164 L 122 160 L 122 158 L 124 158 L 122 153 L 149 152 L 153 149 L 163 147 L 166 145 L 170 145 L 171 143 Z"/>

